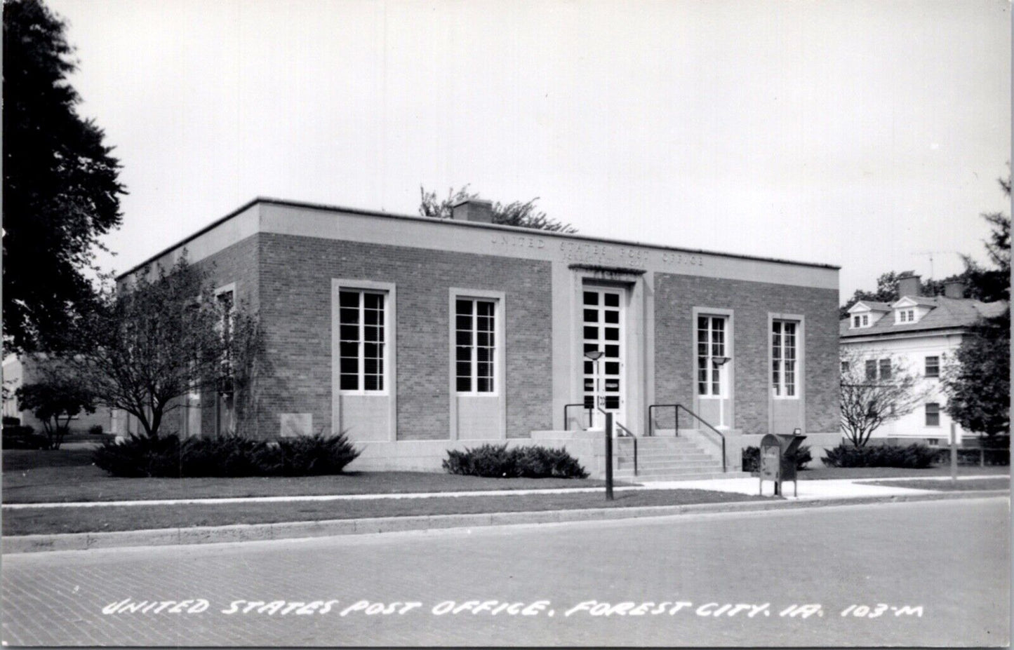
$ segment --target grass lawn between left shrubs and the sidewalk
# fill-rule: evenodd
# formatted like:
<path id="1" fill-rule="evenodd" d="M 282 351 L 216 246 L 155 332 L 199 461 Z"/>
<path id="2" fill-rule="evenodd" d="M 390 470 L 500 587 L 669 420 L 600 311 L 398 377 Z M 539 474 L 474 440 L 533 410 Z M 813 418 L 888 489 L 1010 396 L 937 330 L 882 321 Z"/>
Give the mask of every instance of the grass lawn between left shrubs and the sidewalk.
<path id="1" fill-rule="evenodd" d="M 429 472 L 350 472 L 296 478 L 125 479 L 111 477 L 93 466 L 88 450 L 3 452 L 4 503 L 465 492 L 603 485 L 604 481 L 592 479 L 487 479 Z M 615 485 L 625 484 L 618 481 Z"/>

